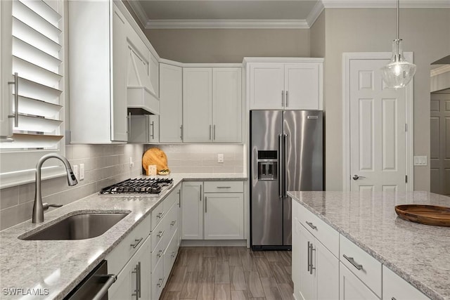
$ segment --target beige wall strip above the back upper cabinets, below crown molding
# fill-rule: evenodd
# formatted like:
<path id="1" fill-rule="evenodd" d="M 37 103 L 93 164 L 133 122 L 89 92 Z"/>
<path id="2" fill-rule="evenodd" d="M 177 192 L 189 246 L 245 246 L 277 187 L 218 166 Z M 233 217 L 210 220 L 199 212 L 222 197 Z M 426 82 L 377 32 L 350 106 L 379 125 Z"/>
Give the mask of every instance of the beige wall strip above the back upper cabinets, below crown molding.
<path id="1" fill-rule="evenodd" d="M 252 57 L 309 57 L 309 30 L 145 30 L 161 58 L 181 63 L 242 63 Z"/>

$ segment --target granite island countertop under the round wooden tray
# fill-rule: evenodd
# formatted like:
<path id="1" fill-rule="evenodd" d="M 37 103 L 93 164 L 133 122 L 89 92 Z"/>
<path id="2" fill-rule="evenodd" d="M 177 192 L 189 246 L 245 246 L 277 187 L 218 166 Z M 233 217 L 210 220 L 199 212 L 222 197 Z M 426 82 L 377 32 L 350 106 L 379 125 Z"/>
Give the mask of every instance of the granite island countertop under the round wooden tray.
<path id="1" fill-rule="evenodd" d="M 450 207 L 450 197 L 427 192 L 288 192 L 431 299 L 450 299 L 450 228 L 397 217 L 399 204 Z"/>

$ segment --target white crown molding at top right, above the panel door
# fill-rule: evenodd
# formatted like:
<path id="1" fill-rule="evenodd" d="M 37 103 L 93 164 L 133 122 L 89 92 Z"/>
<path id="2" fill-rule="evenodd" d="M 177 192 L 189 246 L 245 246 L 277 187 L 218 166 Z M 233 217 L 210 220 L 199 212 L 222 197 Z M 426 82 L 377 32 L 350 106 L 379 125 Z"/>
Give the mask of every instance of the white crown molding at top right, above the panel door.
<path id="1" fill-rule="evenodd" d="M 321 0 L 325 8 L 391 8 L 393 0 Z M 450 0 L 402 0 L 401 8 L 450 8 Z"/>

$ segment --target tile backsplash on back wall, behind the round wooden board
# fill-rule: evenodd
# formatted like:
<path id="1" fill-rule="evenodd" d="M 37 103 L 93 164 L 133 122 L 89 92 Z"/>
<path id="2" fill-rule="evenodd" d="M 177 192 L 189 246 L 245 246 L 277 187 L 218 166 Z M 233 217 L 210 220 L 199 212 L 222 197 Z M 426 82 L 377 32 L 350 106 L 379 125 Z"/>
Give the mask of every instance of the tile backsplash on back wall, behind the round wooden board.
<path id="1" fill-rule="evenodd" d="M 144 149 L 160 148 L 167 155 L 172 173 L 243 173 L 244 145 L 234 144 L 179 144 L 146 145 Z M 224 162 L 217 162 L 217 155 L 224 155 Z"/>

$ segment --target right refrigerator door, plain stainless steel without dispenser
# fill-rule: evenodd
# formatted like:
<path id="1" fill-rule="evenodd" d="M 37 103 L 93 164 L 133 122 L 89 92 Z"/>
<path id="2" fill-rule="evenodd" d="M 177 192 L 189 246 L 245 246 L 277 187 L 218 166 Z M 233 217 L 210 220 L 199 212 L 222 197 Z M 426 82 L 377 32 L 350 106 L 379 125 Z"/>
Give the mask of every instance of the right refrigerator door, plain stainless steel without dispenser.
<path id="1" fill-rule="evenodd" d="M 283 243 L 291 244 L 292 203 L 288 190 L 323 190 L 323 112 L 286 110 Z"/>

